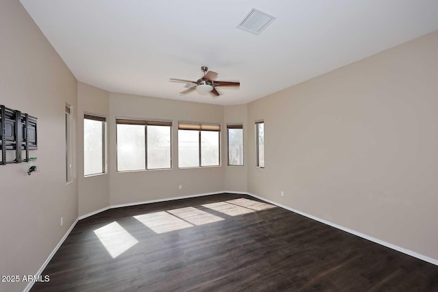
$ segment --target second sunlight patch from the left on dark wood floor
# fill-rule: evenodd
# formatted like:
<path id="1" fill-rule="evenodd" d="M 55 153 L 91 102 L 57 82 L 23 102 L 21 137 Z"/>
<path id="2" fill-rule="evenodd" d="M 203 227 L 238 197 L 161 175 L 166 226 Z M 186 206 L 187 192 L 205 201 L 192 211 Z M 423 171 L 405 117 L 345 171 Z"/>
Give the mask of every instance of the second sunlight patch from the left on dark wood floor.
<path id="1" fill-rule="evenodd" d="M 137 215 L 134 218 L 158 234 L 193 226 L 166 211 Z"/>

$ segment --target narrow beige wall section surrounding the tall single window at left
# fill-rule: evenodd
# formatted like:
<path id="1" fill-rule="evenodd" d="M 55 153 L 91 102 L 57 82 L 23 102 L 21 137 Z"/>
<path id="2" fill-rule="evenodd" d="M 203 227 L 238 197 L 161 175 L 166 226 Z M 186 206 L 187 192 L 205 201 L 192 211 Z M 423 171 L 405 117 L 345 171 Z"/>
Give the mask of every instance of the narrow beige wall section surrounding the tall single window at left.
<path id="1" fill-rule="evenodd" d="M 108 92 L 91 85 L 77 83 L 77 147 L 78 151 L 78 213 L 79 216 L 108 207 L 110 205 L 110 176 L 108 172 L 94 176 L 83 176 L 83 113 L 108 116 L 110 99 Z M 108 139 L 107 139 L 108 141 Z M 106 163 L 112 161 L 105 155 Z"/>

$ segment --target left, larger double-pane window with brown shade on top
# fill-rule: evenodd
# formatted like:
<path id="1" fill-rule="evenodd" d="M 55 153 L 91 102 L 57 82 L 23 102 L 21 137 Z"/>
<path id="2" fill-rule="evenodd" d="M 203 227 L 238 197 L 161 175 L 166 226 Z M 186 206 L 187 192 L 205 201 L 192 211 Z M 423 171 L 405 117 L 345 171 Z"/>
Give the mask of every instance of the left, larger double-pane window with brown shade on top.
<path id="1" fill-rule="evenodd" d="M 117 171 L 172 168 L 171 120 L 116 118 Z"/>

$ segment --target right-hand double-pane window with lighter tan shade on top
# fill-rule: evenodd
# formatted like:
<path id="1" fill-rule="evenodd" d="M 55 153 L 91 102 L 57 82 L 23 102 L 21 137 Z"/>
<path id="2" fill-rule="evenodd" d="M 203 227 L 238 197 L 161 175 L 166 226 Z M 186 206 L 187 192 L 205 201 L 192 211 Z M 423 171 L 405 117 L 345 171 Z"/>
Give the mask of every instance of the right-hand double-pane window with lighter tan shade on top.
<path id="1" fill-rule="evenodd" d="M 220 125 L 179 122 L 179 168 L 220 165 Z"/>

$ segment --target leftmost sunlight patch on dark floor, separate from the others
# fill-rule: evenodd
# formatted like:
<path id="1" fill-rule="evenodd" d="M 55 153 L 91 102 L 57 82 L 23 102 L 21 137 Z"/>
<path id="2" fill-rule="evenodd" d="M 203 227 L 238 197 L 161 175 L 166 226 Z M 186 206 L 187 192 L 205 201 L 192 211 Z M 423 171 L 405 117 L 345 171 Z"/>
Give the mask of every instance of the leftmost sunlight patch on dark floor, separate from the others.
<path id="1" fill-rule="evenodd" d="M 123 254 L 123 252 L 126 252 L 138 243 L 138 240 L 117 222 L 112 222 L 94 230 L 94 234 L 99 237 L 99 240 L 112 258 L 120 256 L 120 254 Z"/>

